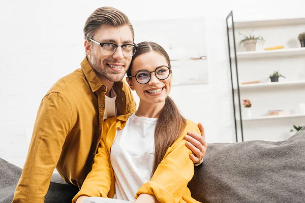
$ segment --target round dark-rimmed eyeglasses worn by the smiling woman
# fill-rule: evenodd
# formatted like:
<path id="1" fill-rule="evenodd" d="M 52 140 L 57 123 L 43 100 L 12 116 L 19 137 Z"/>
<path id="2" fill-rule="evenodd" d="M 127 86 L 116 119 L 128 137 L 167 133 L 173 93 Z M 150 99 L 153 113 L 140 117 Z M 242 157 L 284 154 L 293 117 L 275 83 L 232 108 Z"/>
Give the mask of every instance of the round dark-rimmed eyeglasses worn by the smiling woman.
<path id="1" fill-rule="evenodd" d="M 151 73 L 155 73 L 156 77 L 159 80 L 165 80 L 168 78 L 169 74 L 170 74 L 170 67 L 167 67 L 165 65 L 161 65 L 159 67 L 157 67 L 157 69 L 155 71 L 147 71 L 147 70 L 140 70 L 136 73 L 136 75 L 134 76 L 129 76 L 129 78 L 131 77 L 135 77 L 137 82 L 140 84 L 146 84 L 150 81 L 150 74 Z"/>

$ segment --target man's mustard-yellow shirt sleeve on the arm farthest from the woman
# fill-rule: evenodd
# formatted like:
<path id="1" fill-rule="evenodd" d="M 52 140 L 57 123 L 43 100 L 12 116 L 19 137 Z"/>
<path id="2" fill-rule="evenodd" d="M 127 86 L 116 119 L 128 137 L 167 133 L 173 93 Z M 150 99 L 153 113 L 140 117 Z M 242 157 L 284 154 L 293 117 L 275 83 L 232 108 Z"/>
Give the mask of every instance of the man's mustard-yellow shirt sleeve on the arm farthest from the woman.
<path id="1" fill-rule="evenodd" d="M 44 202 L 73 122 L 70 103 L 62 94 L 52 92 L 42 99 L 13 203 Z"/>

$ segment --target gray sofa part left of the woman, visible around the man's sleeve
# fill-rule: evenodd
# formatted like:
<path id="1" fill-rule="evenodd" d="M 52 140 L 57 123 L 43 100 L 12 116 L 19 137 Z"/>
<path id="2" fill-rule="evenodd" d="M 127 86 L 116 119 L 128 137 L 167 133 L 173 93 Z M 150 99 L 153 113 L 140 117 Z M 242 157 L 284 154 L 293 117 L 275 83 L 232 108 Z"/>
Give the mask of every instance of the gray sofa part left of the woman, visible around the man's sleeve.
<path id="1" fill-rule="evenodd" d="M 14 191 L 21 176 L 22 168 L 0 158 L 0 202 L 13 200 Z M 45 202 L 69 202 L 78 192 L 78 187 L 65 183 L 58 174 L 53 174 Z"/>

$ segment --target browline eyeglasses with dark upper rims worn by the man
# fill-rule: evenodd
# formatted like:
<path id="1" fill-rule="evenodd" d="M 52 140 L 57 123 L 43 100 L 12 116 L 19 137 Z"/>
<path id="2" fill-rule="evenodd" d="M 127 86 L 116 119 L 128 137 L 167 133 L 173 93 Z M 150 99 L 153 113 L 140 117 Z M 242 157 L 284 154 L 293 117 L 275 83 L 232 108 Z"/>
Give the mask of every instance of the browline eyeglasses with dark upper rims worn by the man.
<path id="1" fill-rule="evenodd" d="M 132 57 L 136 53 L 136 48 L 138 47 L 138 45 L 136 45 L 134 43 L 133 44 L 117 45 L 117 44 L 114 44 L 114 43 L 111 43 L 111 42 L 101 43 L 101 42 L 97 42 L 93 39 L 90 39 L 90 41 L 101 45 L 102 53 L 106 56 L 110 56 L 110 55 L 114 54 L 117 47 L 121 47 L 122 48 L 122 53 L 123 53 L 124 56 Z"/>

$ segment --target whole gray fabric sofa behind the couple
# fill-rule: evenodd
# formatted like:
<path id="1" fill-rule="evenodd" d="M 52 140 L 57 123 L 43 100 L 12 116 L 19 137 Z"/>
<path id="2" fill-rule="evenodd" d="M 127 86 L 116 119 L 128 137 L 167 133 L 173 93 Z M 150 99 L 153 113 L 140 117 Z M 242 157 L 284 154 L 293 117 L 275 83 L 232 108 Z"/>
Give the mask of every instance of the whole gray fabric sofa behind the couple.
<path id="1" fill-rule="evenodd" d="M 11 202 L 21 172 L 0 159 L 0 202 Z M 305 202 L 305 128 L 283 142 L 209 144 L 189 187 L 200 202 Z M 54 174 L 45 202 L 77 191 Z"/>

